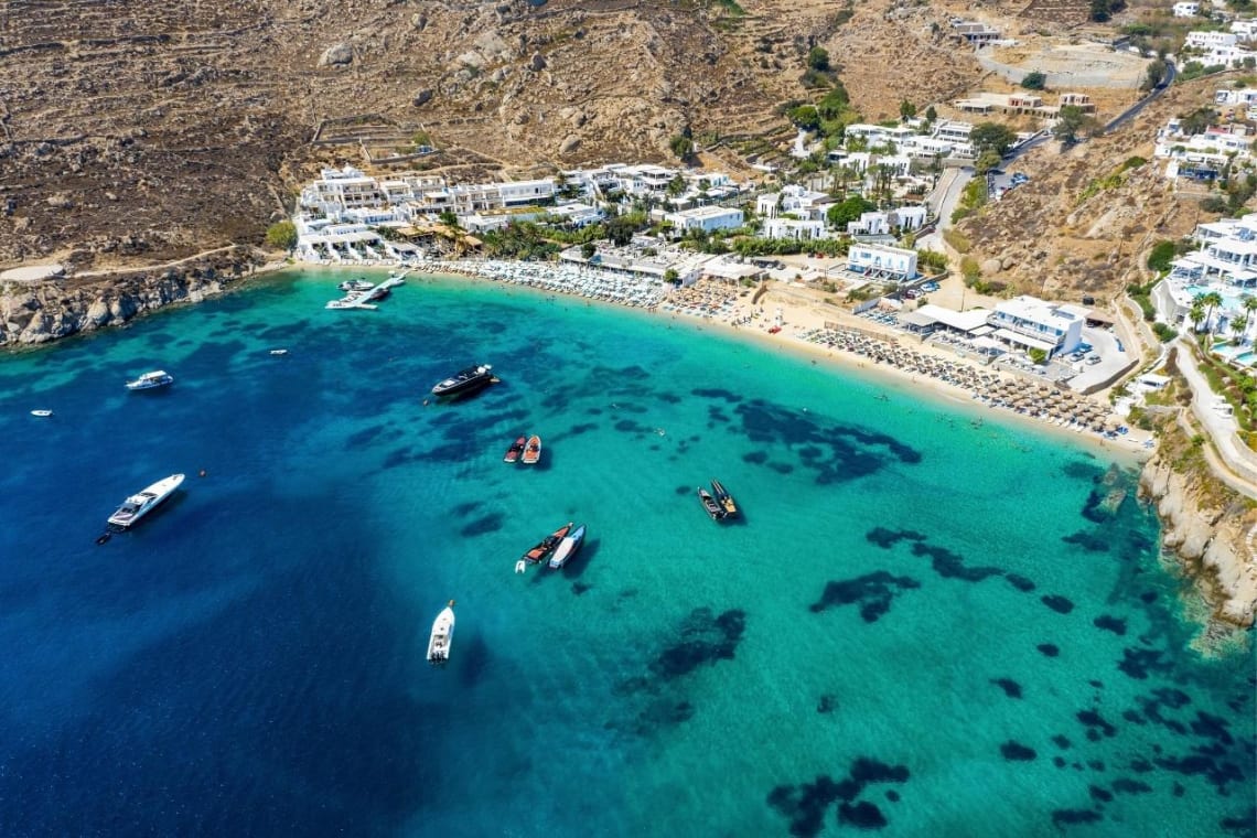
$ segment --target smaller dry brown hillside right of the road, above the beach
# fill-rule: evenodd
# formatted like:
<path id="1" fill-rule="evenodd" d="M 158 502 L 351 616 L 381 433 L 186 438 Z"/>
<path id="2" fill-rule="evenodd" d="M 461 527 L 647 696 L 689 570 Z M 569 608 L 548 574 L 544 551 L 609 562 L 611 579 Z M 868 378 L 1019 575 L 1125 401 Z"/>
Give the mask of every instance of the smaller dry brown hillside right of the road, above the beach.
<path id="1" fill-rule="evenodd" d="M 973 242 L 983 278 L 1047 298 L 1111 297 L 1143 281 L 1140 254 L 1161 239 L 1190 232 L 1204 192 L 1179 191 L 1153 160 L 1153 138 L 1168 118 L 1212 102 L 1226 74 L 1175 85 L 1133 123 L 1061 152 L 1057 143 L 1014 166 L 1029 183 L 967 219 L 959 230 Z M 1112 177 L 1133 157 L 1149 162 Z"/>

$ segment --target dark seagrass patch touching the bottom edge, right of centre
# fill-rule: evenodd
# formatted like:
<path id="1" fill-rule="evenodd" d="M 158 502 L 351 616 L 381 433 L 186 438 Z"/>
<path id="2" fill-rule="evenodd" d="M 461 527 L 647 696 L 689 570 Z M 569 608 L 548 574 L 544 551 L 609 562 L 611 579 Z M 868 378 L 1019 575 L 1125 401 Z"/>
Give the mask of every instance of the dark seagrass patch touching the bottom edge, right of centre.
<path id="1" fill-rule="evenodd" d="M 818 835 L 825 828 L 826 810 L 838 803 L 837 819 L 840 824 L 861 829 L 880 829 L 889 825 L 881 809 L 867 800 L 857 800 L 866 786 L 880 783 L 906 783 L 909 771 L 905 765 L 887 765 L 876 759 L 861 756 L 851 765 L 846 778 L 835 781 L 828 775 L 816 778 L 815 783 L 798 785 L 778 785 L 768 794 L 768 805 L 789 819 L 789 833 L 802 838 Z M 896 793 L 886 798 L 899 800 Z M 841 802 L 841 803 L 840 803 Z"/>

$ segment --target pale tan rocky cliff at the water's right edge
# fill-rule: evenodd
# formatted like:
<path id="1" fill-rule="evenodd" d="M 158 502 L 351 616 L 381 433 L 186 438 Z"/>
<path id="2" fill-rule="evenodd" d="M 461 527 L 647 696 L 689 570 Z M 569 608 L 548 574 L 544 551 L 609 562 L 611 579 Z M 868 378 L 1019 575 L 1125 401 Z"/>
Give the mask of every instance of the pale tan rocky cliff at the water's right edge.
<path id="1" fill-rule="evenodd" d="M 1257 608 L 1257 506 L 1202 467 L 1192 441 L 1168 423 L 1140 476 L 1156 505 L 1163 541 L 1183 559 L 1218 619 L 1252 626 Z"/>

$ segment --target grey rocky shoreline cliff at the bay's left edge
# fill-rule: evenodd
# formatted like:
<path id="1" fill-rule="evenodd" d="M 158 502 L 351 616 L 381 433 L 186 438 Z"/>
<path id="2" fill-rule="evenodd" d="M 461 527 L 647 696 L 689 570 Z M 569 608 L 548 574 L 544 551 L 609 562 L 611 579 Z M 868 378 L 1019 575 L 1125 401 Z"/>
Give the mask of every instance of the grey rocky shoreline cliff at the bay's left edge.
<path id="1" fill-rule="evenodd" d="M 122 325 L 172 303 L 221 293 L 263 263 L 248 248 L 228 248 L 177 265 L 98 278 L 0 285 L 0 346 L 36 344 Z"/>

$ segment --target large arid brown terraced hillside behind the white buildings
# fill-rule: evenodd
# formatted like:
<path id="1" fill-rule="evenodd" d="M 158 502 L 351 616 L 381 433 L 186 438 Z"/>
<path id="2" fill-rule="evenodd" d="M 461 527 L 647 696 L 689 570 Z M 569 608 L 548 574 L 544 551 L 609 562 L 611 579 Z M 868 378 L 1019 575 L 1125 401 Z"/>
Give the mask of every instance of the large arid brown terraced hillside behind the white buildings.
<path id="1" fill-rule="evenodd" d="M 258 241 L 318 165 L 405 153 L 420 131 L 441 150 L 432 162 L 468 176 L 666 160 L 685 128 L 727 151 L 779 137 L 777 107 L 820 95 L 799 84 L 817 44 L 870 116 L 979 77 L 943 9 L 867 0 L 845 26 L 817 0 L 740 9 L 9 0 L 0 266 L 101 269 Z"/>

